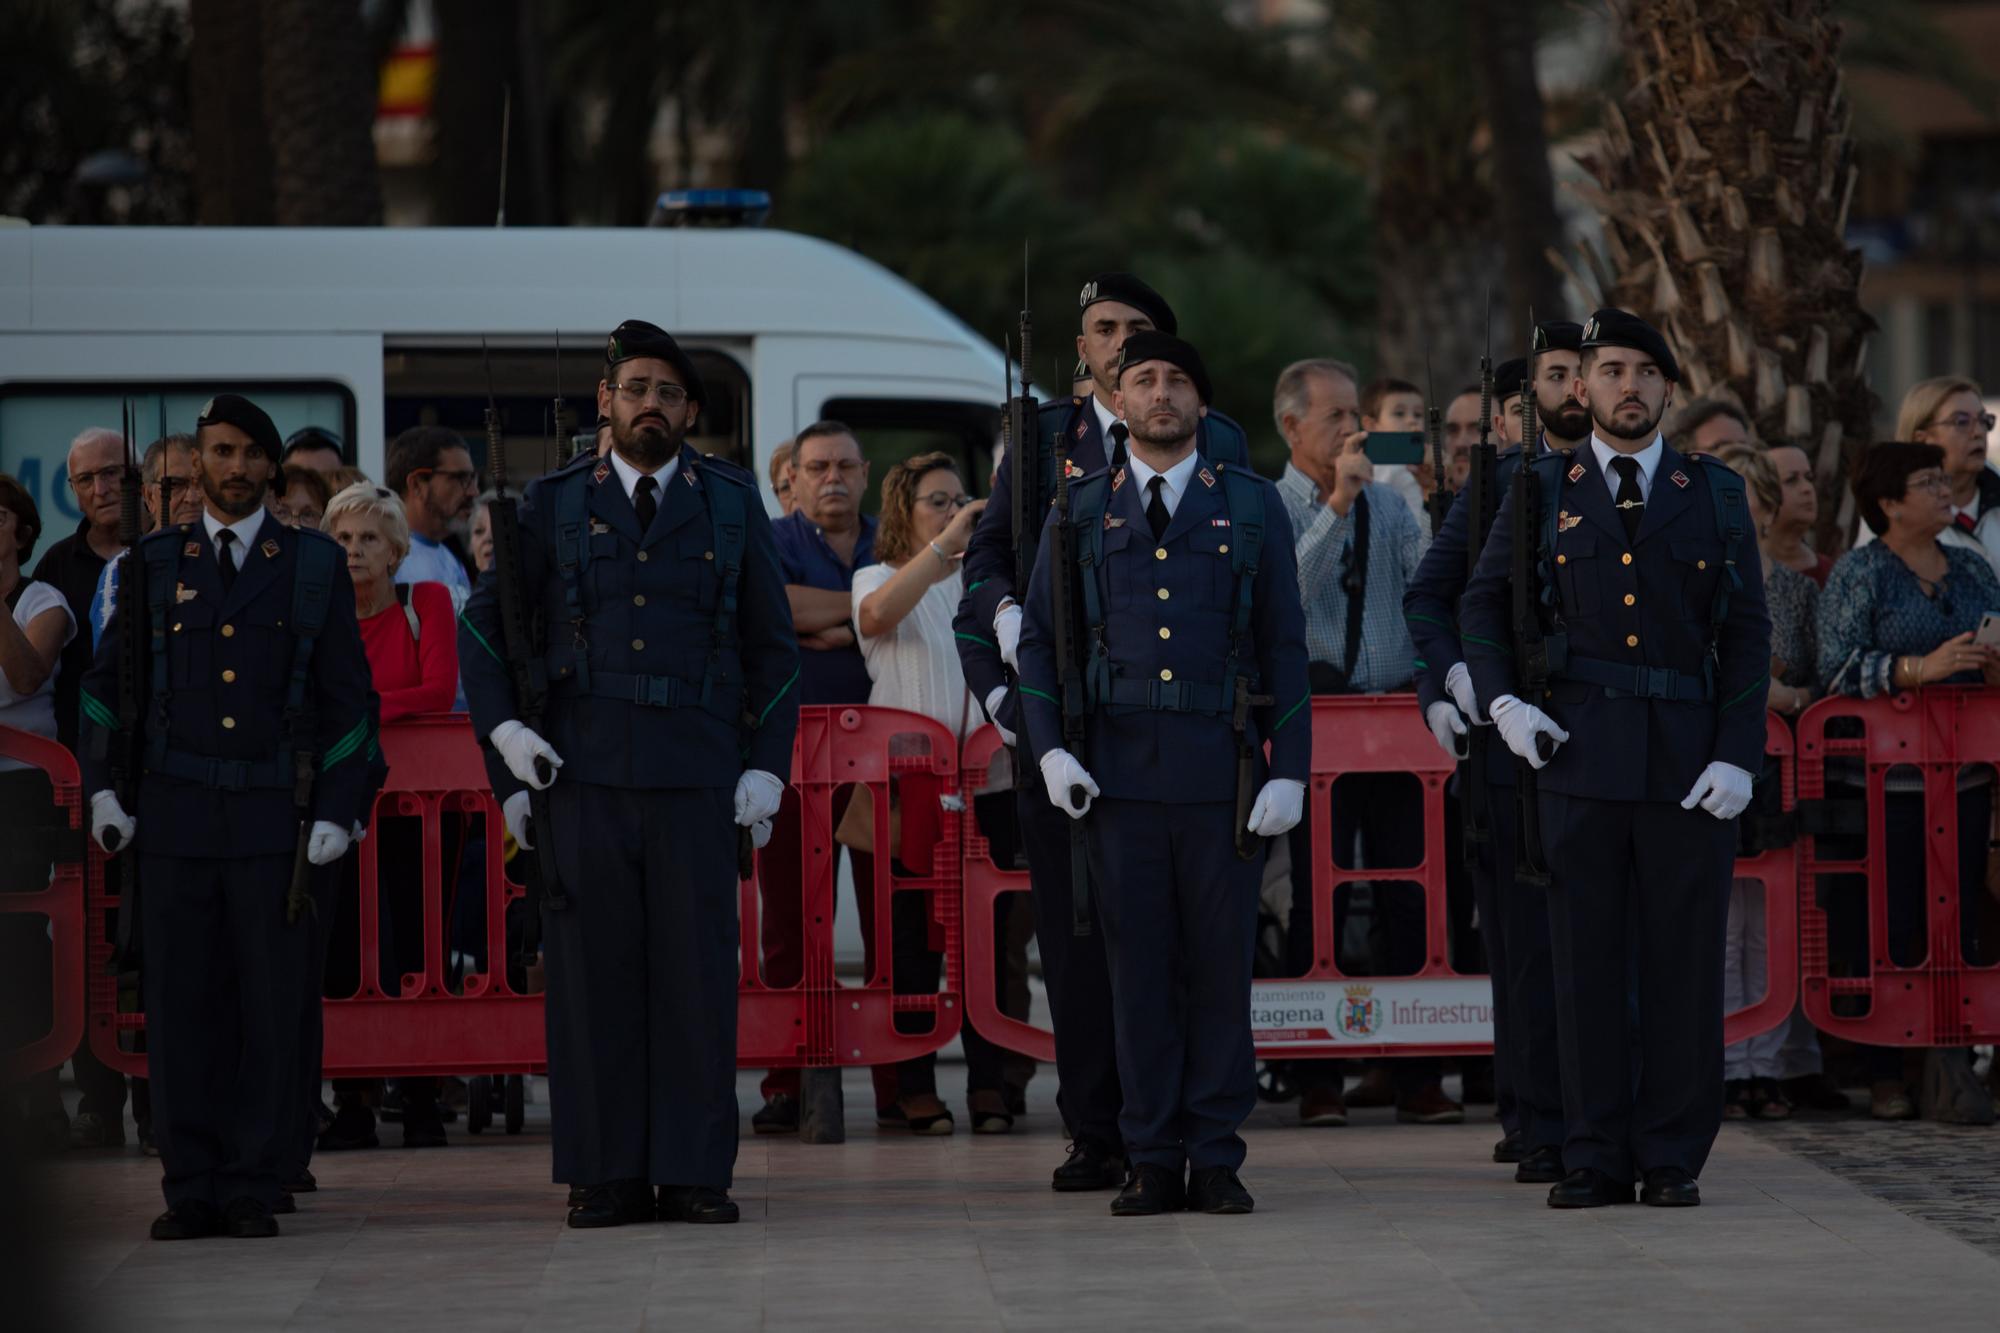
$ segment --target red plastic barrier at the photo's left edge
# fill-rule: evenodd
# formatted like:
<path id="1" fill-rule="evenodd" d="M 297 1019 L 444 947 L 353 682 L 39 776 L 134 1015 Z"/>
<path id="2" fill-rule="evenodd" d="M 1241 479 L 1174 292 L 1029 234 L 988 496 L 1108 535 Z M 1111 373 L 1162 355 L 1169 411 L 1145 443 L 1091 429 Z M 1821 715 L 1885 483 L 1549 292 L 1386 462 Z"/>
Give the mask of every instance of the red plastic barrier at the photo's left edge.
<path id="1" fill-rule="evenodd" d="M 0 915 L 46 917 L 50 935 L 50 1027 L 36 1041 L 6 1053 L 8 1077 L 20 1079 L 62 1065 L 84 1035 L 86 885 L 102 883 L 104 853 L 98 851 L 96 843 L 90 843 L 76 759 L 66 749 L 26 731 L 0 727 L 0 759 L 18 759 L 48 775 L 56 809 L 66 815 L 72 835 L 70 847 L 58 849 L 70 855 L 52 857 L 52 875 L 46 887 L 0 891 Z M 20 887 L 6 885 L 6 889 Z M 26 939 L 20 945 L 22 949 L 30 947 Z"/>

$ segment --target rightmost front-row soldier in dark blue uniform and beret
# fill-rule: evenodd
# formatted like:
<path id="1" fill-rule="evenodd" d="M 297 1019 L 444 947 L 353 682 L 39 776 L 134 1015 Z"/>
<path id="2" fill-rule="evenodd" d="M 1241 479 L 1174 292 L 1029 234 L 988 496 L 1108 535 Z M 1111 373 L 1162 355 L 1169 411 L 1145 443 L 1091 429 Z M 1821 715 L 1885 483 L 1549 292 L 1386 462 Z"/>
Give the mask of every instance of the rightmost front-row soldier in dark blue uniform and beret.
<path id="1" fill-rule="evenodd" d="M 1722 935 L 1764 755 L 1770 618 L 1742 480 L 1660 438 L 1678 380 L 1644 320 L 1590 316 L 1590 442 L 1508 492 L 1458 612 L 1478 701 L 1540 771 L 1568 1169 L 1550 1207 L 1630 1203 L 1634 1179 L 1650 1205 L 1700 1203 L 1722 1125 Z M 1510 598 L 1528 488 L 1548 596 L 1532 628 Z M 1550 679 L 1524 699 L 1510 644 L 1534 632 Z"/>

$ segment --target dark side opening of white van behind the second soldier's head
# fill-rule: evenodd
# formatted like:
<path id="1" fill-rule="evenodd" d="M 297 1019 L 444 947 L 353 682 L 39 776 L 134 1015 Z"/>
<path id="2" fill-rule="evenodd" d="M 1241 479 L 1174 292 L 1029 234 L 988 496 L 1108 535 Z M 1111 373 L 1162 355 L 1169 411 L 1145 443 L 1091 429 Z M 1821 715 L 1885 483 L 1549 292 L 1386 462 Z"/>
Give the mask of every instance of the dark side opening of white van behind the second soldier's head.
<path id="1" fill-rule="evenodd" d="M 694 422 L 688 444 L 750 466 L 750 376 L 734 356 L 716 348 L 688 348 L 708 404 Z M 480 482 L 492 484 L 486 462 L 486 362 L 492 362 L 500 440 L 506 448 L 508 484 L 520 488 L 542 472 L 568 462 L 576 440 L 556 440 L 550 420 L 560 382 L 564 408 L 576 434 L 592 436 L 598 422 L 598 378 L 604 374 L 604 340 L 562 338 L 558 380 L 554 340 L 526 346 L 518 338 L 490 342 L 486 354 L 464 340 L 392 340 L 382 354 L 382 444 L 410 426 L 446 426 L 466 436 Z M 582 448 L 592 440 L 584 438 Z"/>

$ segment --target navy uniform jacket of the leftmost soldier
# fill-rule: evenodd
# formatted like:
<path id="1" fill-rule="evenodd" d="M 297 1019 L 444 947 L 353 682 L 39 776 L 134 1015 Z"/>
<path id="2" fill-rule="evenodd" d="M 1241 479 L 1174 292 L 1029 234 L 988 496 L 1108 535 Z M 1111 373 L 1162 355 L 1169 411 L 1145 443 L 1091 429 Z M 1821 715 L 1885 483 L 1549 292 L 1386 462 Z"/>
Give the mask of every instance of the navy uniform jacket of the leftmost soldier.
<path id="1" fill-rule="evenodd" d="M 332 538 L 266 516 L 228 592 L 204 524 L 174 524 L 140 542 L 136 570 L 146 568 L 144 556 L 158 546 L 180 546 L 174 600 L 166 606 L 168 697 L 150 701 L 142 717 L 150 733 L 164 713 L 168 751 L 220 761 L 216 773 L 224 781 L 226 765 L 236 773 L 248 765 L 276 767 L 286 745 L 284 703 L 298 646 L 288 622 L 304 542 Z M 332 568 L 332 598 L 308 675 L 320 755 L 312 819 L 348 829 L 368 819 L 380 785 L 380 751 L 346 558 L 336 554 Z M 78 751 L 90 793 L 112 785 L 106 747 L 116 745 L 120 642 L 130 632 L 150 634 L 150 626 L 126 618 L 130 602 L 118 598 L 82 683 Z M 138 849 L 154 857 L 268 857 L 290 853 L 298 841 L 290 783 L 230 791 L 148 771 L 130 815 L 138 819 Z"/>

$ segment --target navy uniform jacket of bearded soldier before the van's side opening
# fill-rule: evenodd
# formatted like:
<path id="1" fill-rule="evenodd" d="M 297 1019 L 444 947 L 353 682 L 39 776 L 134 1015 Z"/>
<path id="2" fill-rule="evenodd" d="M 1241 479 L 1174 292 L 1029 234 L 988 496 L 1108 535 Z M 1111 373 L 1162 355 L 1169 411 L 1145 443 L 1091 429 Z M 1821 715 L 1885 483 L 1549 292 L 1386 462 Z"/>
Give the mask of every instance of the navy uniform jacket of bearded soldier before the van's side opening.
<path id="1" fill-rule="evenodd" d="M 566 610 L 566 580 L 556 568 L 554 514 L 558 492 L 568 486 L 586 492 L 590 560 L 578 576 L 580 626 Z M 728 642 L 714 646 L 710 707 L 694 703 L 710 673 L 722 592 L 704 486 L 750 490 L 742 504 L 736 622 Z M 562 757 L 562 777 L 670 789 L 734 787 L 744 769 L 790 775 L 798 642 L 770 518 L 748 472 L 682 446 L 660 510 L 642 532 L 616 468 L 586 454 L 530 482 L 520 504 L 520 562 L 522 586 L 546 626 L 550 689 L 542 735 Z M 588 693 L 578 689 L 578 658 L 592 677 Z M 516 717 L 492 570 L 480 576 L 460 616 L 458 660 L 472 727 L 484 741 Z M 496 797 L 520 791 L 504 765 L 488 769 Z"/>

